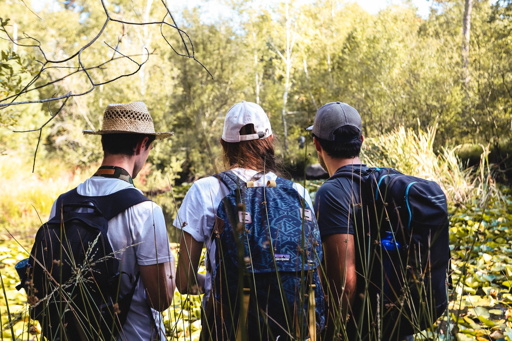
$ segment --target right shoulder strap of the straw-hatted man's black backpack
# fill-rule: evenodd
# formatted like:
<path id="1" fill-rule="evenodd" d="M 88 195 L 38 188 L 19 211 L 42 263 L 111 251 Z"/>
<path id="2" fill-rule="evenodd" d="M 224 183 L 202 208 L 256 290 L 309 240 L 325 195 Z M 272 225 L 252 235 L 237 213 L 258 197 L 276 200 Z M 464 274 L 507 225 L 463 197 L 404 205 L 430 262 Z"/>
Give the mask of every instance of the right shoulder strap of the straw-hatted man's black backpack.
<path id="1" fill-rule="evenodd" d="M 98 208 L 103 213 L 103 217 L 110 220 L 136 204 L 152 200 L 136 188 L 130 187 L 110 195 L 95 197 L 95 201 L 98 203 Z"/>

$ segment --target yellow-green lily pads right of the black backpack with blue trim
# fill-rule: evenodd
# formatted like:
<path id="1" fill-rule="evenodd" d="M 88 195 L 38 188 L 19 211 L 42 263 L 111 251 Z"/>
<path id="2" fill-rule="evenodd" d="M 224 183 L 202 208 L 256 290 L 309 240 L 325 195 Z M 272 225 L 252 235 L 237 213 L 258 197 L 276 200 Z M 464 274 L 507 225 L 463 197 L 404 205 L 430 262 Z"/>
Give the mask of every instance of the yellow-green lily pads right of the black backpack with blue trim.
<path id="1" fill-rule="evenodd" d="M 512 338 L 512 200 L 452 207 L 450 244 L 455 289 L 446 322 L 458 339 Z M 438 323 L 442 325 L 443 323 Z M 487 338 L 486 338 L 487 337 Z M 442 339 L 442 338 L 439 338 Z"/>

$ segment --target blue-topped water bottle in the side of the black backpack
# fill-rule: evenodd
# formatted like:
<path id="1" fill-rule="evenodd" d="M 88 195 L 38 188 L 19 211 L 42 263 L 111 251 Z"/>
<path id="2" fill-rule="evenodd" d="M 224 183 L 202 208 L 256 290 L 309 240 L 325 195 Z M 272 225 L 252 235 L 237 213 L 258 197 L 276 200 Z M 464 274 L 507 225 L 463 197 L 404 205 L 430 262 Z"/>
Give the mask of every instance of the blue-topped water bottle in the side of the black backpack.
<path id="1" fill-rule="evenodd" d="M 400 277 L 402 267 L 399 257 L 400 244 L 393 237 L 391 231 L 380 240 L 382 255 L 382 274 L 384 285 L 382 294 L 384 304 L 395 302 L 400 295 Z"/>

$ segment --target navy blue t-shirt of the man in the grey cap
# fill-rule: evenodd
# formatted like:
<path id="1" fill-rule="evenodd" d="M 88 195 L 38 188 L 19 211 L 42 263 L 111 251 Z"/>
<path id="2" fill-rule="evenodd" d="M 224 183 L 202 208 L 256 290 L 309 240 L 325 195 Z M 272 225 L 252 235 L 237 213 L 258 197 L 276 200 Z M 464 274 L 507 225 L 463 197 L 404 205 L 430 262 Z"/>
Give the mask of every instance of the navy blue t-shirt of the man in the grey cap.
<path id="1" fill-rule="evenodd" d="M 359 174 L 367 169 L 366 165 L 346 165 L 335 174 L 347 170 Z M 321 237 L 338 233 L 354 234 L 357 225 L 354 217 L 359 210 L 356 204 L 361 202 L 359 188 L 359 178 L 343 176 L 325 181 L 316 191 L 315 211 Z"/>

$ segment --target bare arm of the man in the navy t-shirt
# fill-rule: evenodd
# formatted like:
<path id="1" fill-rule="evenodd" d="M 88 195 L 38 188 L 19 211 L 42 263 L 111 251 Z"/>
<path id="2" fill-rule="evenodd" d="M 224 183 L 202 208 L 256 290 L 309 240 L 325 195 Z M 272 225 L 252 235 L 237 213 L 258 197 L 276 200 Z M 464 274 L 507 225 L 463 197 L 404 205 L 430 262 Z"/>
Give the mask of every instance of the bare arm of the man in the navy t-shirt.
<path id="1" fill-rule="evenodd" d="M 326 276 L 330 288 L 328 329 L 334 327 L 335 320 L 342 314 L 346 321 L 351 311 L 356 291 L 354 235 L 332 234 L 322 238 Z M 341 310 L 340 310 L 341 308 Z M 334 332 L 331 330 L 331 333 Z"/>

